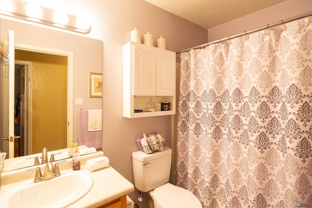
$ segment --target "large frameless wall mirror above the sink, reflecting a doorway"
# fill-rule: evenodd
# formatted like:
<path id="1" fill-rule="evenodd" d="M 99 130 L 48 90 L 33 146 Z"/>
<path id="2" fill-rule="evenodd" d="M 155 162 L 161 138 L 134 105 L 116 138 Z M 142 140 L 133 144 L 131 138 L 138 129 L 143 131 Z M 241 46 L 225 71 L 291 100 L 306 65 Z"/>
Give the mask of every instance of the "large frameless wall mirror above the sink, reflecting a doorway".
<path id="1" fill-rule="evenodd" d="M 15 55 L 10 58 L 15 57 L 16 84 L 12 106 L 8 63 L 0 58 L 0 151 L 7 153 L 5 163 L 40 155 L 43 148 L 50 154 L 59 153 L 56 160 L 63 159 L 60 155 L 66 156 L 70 139 L 85 153 L 100 151 L 101 129 L 88 131 L 88 121 L 102 108 L 101 97 L 90 96 L 89 90 L 90 83 L 94 84 L 90 74 L 102 73 L 102 41 L 0 18 L 2 48 L 9 43 L 9 31 L 14 31 Z M 17 138 L 13 141 L 8 130 L 9 108 L 14 109 Z"/>

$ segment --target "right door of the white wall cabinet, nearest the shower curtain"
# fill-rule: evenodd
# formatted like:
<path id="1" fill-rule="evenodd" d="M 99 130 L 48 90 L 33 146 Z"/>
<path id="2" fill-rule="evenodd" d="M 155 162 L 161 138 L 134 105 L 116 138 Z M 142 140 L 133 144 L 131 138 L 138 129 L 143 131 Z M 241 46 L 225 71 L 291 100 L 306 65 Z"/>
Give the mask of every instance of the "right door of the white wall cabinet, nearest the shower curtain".
<path id="1" fill-rule="evenodd" d="M 176 95 L 176 53 L 157 52 L 157 96 Z"/>

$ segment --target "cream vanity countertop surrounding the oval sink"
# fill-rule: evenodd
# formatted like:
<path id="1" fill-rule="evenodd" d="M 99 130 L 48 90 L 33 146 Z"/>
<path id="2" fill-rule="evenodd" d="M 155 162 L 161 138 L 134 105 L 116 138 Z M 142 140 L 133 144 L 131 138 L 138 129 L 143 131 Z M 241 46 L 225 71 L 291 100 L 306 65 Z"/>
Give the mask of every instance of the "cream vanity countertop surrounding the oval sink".
<path id="1" fill-rule="evenodd" d="M 97 152 L 85 156 L 83 159 L 80 160 L 81 169 L 76 171 L 84 171 L 89 173 L 93 177 L 93 187 L 84 197 L 82 197 L 74 204 L 70 205 L 68 208 L 97 208 L 103 204 L 106 204 L 134 191 L 133 184 L 131 184 L 127 179 L 125 179 L 121 174 L 119 174 L 115 169 L 110 166 L 104 169 L 95 170 L 93 172 L 90 172 L 87 169 L 85 162 L 88 159 L 92 159 L 102 155 L 103 152 Z M 42 173 L 44 172 L 44 167 L 44 164 L 41 165 Z M 67 162 L 59 164 L 59 170 L 61 174 L 62 172 L 64 173 L 68 171 L 73 171 L 72 161 L 68 160 Z M 25 171 L 24 169 L 12 170 L 2 173 L 0 197 L 4 195 L 7 191 L 10 191 L 15 186 L 22 183 L 24 180 L 28 180 L 29 178 L 34 177 L 34 171 Z M 69 186 L 69 184 L 64 184 L 64 186 Z M 53 197 L 53 194 L 51 195 L 51 197 Z"/>

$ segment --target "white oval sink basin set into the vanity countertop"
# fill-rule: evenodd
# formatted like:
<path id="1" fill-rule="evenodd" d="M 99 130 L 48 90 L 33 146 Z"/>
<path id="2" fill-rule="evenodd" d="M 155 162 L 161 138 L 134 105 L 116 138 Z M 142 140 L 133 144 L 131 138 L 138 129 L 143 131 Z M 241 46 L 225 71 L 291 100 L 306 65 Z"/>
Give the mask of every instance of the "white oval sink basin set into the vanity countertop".
<path id="1" fill-rule="evenodd" d="M 83 171 L 68 171 L 59 177 L 39 183 L 29 179 L 1 198 L 3 208 L 65 208 L 86 195 L 93 186 L 93 178 Z"/>

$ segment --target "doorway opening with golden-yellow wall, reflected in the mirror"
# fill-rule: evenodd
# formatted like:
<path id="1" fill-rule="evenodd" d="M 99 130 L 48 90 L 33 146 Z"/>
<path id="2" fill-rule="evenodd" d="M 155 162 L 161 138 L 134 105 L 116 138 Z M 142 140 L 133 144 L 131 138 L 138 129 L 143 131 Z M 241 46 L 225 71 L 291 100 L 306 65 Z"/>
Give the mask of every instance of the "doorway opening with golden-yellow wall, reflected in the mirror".
<path id="1" fill-rule="evenodd" d="M 32 62 L 28 79 L 31 88 L 28 100 L 32 105 L 25 108 L 29 109 L 28 120 L 31 120 L 25 129 L 26 135 L 30 132 L 28 154 L 38 153 L 44 147 L 67 148 L 67 57 L 16 49 L 15 59 Z M 21 149 L 23 141 L 22 138 Z"/>

